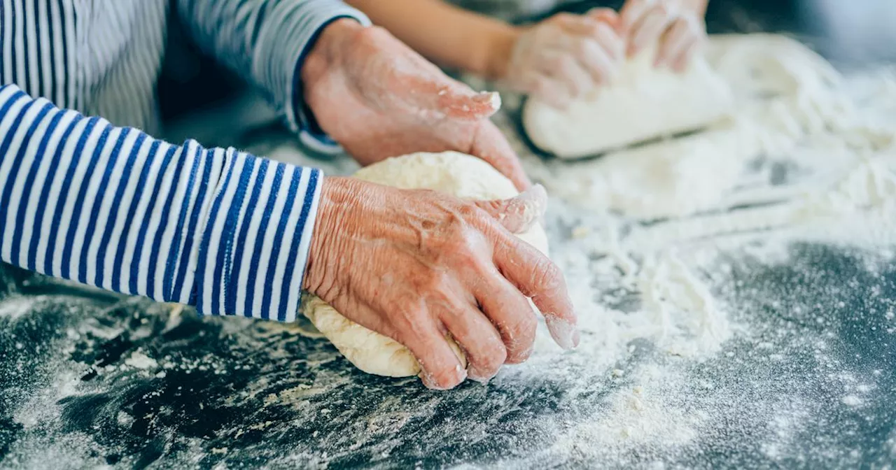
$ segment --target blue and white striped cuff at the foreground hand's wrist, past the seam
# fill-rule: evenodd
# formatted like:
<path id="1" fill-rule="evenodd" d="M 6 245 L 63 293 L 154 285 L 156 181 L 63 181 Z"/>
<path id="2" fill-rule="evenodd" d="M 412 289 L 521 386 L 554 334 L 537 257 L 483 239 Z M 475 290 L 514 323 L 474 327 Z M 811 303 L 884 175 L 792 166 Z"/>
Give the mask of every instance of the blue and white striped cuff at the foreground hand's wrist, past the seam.
<path id="1" fill-rule="evenodd" d="M 293 321 L 320 201 L 320 170 L 215 150 L 225 174 L 196 269 L 197 310 Z"/>

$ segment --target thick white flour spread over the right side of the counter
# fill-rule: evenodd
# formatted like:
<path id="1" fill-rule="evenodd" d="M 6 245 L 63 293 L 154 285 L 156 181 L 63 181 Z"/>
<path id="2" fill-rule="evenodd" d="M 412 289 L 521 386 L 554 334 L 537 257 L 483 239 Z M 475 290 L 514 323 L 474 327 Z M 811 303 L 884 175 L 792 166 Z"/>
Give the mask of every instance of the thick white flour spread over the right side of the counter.
<path id="1" fill-rule="evenodd" d="M 843 78 L 778 36 L 716 38 L 710 58 L 739 91 L 740 111 L 707 132 L 578 163 L 518 148 L 558 197 L 547 226 L 564 239 L 554 242 L 563 247 L 554 258 L 580 315 L 582 346 L 573 355 L 613 380 L 638 338 L 650 340 L 659 362 L 665 355 L 700 363 L 729 338 L 754 334 L 731 312 L 760 307 L 726 305 L 712 292 L 713 278 L 732 269 L 719 256 L 775 263 L 801 240 L 874 249 L 881 259 L 896 247 L 892 71 Z M 582 218 L 582 209 L 592 215 Z M 760 351 L 763 344 L 771 346 L 761 343 Z M 544 374 L 557 353 L 544 352 L 547 339 L 539 346 L 541 355 L 513 375 Z M 694 439 L 701 423 L 725 419 L 720 405 L 679 407 L 689 392 L 676 366 L 622 372 L 632 386 L 613 392 L 592 420 L 559 431 L 546 456 L 573 452 L 624 465 L 625 449 L 668 451 Z M 853 392 L 841 399 L 863 403 Z M 786 454 L 788 429 L 810 414 L 806 406 L 756 410 L 780 429 L 766 438 L 768 456 Z"/>

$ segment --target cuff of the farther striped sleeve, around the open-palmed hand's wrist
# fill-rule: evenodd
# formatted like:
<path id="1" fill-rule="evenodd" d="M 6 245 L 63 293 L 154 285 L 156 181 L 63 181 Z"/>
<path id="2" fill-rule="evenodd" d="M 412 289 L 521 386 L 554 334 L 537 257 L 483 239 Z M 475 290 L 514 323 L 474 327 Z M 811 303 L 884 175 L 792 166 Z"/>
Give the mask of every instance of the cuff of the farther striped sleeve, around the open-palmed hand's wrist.
<path id="1" fill-rule="evenodd" d="M 273 94 L 280 104 L 280 113 L 300 139 L 315 150 L 338 149 L 326 136 L 311 132 L 312 116 L 302 98 L 298 73 L 306 54 L 314 45 L 320 30 L 338 18 L 354 18 L 365 26 L 370 20 L 364 13 L 339 0 L 291 0 L 271 5 L 268 19 L 259 35 L 258 53 L 254 56 L 254 76 Z"/>

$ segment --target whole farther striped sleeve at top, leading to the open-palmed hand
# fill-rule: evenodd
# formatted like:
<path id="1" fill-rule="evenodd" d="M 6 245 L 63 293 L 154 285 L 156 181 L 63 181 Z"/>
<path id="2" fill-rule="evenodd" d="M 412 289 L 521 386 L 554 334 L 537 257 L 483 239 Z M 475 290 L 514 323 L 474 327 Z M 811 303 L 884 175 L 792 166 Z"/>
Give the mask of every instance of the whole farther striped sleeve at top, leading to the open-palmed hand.
<path id="1" fill-rule="evenodd" d="M 267 95 L 290 129 L 317 150 L 338 150 L 306 109 L 300 71 L 320 31 L 339 18 L 370 25 L 340 0 L 178 0 L 199 45 Z"/>

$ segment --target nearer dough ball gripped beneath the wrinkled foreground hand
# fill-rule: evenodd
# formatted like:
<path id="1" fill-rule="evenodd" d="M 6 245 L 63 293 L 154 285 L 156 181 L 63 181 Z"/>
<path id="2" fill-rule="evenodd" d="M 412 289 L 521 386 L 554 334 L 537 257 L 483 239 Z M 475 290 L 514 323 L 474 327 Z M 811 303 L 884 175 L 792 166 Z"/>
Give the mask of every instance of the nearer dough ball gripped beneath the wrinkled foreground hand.
<path id="1" fill-rule="evenodd" d="M 508 199 L 519 193 L 494 167 L 458 152 L 414 153 L 389 158 L 362 168 L 355 176 L 372 183 L 401 189 L 431 189 L 470 200 Z M 540 225 L 536 224 L 518 236 L 547 254 L 547 235 Z M 358 369 L 389 377 L 409 377 L 420 372 L 420 365 L 408 348 L 343 317 L 319 297 L 308 295 L 302 312 Z M 466 367 L 461 349 L 451 338 L 448 340 Z"/>

